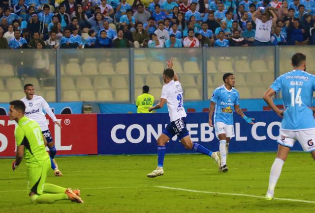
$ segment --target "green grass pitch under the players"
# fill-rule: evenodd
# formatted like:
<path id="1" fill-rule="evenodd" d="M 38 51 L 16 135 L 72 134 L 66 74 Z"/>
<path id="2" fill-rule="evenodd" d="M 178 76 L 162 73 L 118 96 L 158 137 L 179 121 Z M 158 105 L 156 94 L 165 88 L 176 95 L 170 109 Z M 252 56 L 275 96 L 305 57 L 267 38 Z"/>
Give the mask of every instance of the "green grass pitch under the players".
<path id="1" fill-rule="evenodd" d="M 57 157 L 63 177 L 48 176 L 47 183 L 80 188 L 85 204 L 57 201 L 30 203 L 26 194 L 23 162 L 12 172 L 12 159 L 1 159 L 0 212 L 7 213 L 301 213 L 313 212 L 315 204 L 266 201 L 261 198 L 205 194 L 158 188 L 168 186 L 200 191 L 264 196 L 275 153 L 229 154 L 228 173 L 219 173 L 204 155 L 166 155 L 164 176 L 146 174 L 157 156 Z M 276 197 L 315 201 L 314 161 L 310 154 L 290 153 L 285 162 Z"/>

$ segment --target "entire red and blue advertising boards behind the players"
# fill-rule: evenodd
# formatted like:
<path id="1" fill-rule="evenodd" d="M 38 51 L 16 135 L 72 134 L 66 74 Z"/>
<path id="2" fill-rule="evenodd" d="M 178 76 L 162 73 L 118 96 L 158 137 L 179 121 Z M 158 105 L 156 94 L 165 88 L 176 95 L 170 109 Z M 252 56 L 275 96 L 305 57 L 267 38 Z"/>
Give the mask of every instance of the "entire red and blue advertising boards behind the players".
<path id="1" fill-rule="evenodd" d="M 249 111 L 255 124 L 247 124 L 234 114 L 235 137 L 230 152 L 271 152 L 277 150 L 281 118 L 272 111 Z M 156 139 L 169 123 L 167 113 L 153 114 L 74 114 L 57 115 L 62 129 L 52 125 L 58 155 L 121 155 L 156 154 Z M 15 156 L 14 128 L 16 123 L 8 116 L 0 116 L 0 157 Z M 217 151 L 219 142 L 208 125 L 208 113 L 188 113 L 187 127 L 192 142 Z M 185 150 L 177 137 L 166 147 L 167 153 L 192 153 Z M 296 143 L 292 150 L 302 150 Z"/>

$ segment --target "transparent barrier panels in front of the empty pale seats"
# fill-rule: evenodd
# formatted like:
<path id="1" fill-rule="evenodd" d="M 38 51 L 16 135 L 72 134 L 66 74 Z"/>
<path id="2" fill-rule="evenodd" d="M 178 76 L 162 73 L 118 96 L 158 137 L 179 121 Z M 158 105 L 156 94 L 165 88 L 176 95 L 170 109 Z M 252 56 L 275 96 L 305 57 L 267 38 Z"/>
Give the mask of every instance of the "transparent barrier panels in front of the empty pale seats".
<path id="1" fill-rule="evenodd" d="M 159 99 L 166 61 L 174 58 L 187 101 L 207 100 L 235 74 L 241 99 L 261 98 L 276 77 L 292 70 L 290 58 L 307 55 L 307 71 L 315 73 L 313 46 L 0 50 L 0 102 L 24 96 L 32 83 L 48 102 L 134 102 L 142 86 Z"/>

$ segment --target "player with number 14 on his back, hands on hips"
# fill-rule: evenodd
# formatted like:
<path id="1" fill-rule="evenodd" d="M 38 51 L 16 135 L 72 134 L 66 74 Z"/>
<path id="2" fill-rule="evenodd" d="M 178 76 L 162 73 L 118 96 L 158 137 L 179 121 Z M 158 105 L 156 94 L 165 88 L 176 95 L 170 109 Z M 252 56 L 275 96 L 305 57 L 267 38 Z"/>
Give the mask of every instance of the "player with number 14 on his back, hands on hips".
<path id="1" fill-rule="evenodd" d="M 290 148 L 296 140 L 305 152 L 310 152 L 315 160 L 315 123 L 313 113 L 313 91 L 315 91 L 315 76 L 306 70 L 306 55 L 295 53 L 291 58 L 293 70 L 278 77 L 265 92 L 265 102 L 280 117 L 280 135 L 277 140 L 278 153 L 271 166 L 267 200 L 272 200 L 282 166 Z M 272 96 L 282 90 L 284 110 L 279 109 L 272 100 Z"/>

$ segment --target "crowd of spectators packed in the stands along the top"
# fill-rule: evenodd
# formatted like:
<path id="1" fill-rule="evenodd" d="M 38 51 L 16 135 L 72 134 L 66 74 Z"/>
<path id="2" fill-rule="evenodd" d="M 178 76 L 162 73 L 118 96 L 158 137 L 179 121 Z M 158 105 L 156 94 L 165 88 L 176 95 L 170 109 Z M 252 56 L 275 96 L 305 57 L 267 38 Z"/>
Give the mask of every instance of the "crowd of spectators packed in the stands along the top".
<path id="1" fill-rule="evenodd" d="M 315 44 L 315 0 L 0 0 L 0 49 Z"/>

